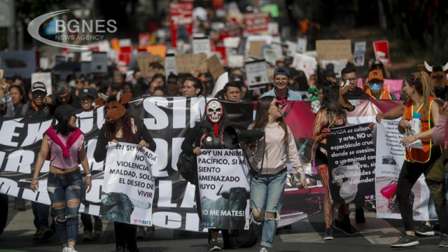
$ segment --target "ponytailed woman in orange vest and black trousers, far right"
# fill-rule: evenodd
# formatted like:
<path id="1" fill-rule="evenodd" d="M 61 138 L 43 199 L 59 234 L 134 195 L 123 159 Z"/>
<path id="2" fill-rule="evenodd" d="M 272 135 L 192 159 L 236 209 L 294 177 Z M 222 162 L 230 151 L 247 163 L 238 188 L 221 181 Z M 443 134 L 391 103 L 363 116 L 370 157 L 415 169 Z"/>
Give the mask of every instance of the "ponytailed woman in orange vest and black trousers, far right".
<path id="1" fill-rule="evenodd" d="M 423 148 L 406 148 L 405 162 L 403 162 L 401 167 L 397 189 L 395 190 L 401 218 L 405 225 L 405 235 L 391 244 L 391 247 L 407 247 L 419 244 L 414 233 L 413 211 L 409 195 L 412 186 L 414 186 L 421 174 L 425 174 L 426 183 L 430 188 L 431 195 L 435 199 L 440 231 L 442 232 L 439 246 L 448 246 L 448 238 L 446 235 L 448 232 L 447 204 L 440 204 L 442 202 L 437 200 L 439 199 L 437 196 L 440 193 L 440 189 L 443 188 L 444 172 L 433 169 L 435 161 L 440 157 L 442 152 L 440 146 L 433 144 L 431 141 L 431 134 L 435 129 L 433 126 L 437 124 L 439 119 L 439 106 L 436 102 L 433 102 L 435 97 L 433 84 L 428 74 L 421 71 L 419 73 L 411 73 L 407 77 L 403 90 L 409 99 L 406 102 L 402 120 L 398 123 L 398 130 L 406 134 L 406 137 L 401 140 L 401 143 L 403 146 L 409 146 L 409 144 L 420 139 Z M 421 132 L 412 134 L 411 123 L 409 121 L 419 116 Z"/>

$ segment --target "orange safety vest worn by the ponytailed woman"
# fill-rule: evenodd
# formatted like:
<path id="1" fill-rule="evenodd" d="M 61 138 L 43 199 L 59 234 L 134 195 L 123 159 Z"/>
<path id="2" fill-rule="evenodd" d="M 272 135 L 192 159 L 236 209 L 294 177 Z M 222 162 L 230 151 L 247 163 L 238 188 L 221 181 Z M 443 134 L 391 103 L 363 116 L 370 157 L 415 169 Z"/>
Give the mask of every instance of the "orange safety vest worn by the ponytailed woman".
<path id="1" fill-rule="evenodd" d="M 434 97 L 429 97 L 429 107 L 433 103 Z M 423 104 L 420 105 L 419 109 L 417 109 L 416 113 L 421 114 L 421 132 L 426 132 L 430 130 L 431 128 L 431 111 L 428 111 L 428 114 L 426 114 L 426 117 L 423 118 L 423 111 L 421 111 L 423 107 Z M 414 111 L 414 105 L 412 104 L 412 100 L 408 100 L 406 103 L 406 109 L 405 109 L 405 116 L 403 119 L 411 120 L 412 119 L 412 113 Z M 425 163 L 429 161 L 429 158 L 431 157 L 431 144 L 432 140 L 431 138 L 421 139 L 421 144 L 423 145 L 423 148 L 406 148 L 405 153 L 405 160 L 408 162 L 420 162 Z"/>

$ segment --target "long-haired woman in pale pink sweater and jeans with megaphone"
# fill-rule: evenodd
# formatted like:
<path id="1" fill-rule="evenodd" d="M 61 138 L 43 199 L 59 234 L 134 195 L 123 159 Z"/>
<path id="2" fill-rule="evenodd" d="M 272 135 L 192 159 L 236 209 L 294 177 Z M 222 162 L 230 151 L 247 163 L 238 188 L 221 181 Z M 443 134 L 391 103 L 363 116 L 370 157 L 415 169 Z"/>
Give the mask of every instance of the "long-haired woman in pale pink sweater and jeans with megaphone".
<path id="1" fill-rule="evenodd" d="M 297 154 L 293 133 L 282 116 L 282 106 L 275 97 L 258 100 L 255 122 L 249 129 L 260 129 L 265 137 L 248 145 L 251 155 L 251 211 L 253 228 L 261 236 L 260 252 L 274 244 L 280 220 L 283 190 L 286 184 L 286 162 L 300 174 L 300 182 L 308 188 L 304 169 Z"/>

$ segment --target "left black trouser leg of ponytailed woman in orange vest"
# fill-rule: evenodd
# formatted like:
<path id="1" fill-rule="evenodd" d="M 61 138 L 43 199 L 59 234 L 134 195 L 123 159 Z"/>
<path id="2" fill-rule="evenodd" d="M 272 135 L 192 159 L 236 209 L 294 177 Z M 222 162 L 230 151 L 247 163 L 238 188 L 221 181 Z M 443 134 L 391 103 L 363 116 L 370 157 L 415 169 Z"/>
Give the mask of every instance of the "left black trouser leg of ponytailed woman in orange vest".
<path id="1" fill-rule="evenodd" d="M 405 231 L 414 231 L 414 219 L 412 218 L 412 205 L 409 200 L 412 186 L 419 179 L 421 174 L 428 174 L 435 160 L 440 157 L 440 148 L 432 148 L 430 160 L 426 163 L 405 162 L 403 163 L 398 176 L 397 190 L 395 194 L 398 200 L 401 218 L 405 225 Z"/>

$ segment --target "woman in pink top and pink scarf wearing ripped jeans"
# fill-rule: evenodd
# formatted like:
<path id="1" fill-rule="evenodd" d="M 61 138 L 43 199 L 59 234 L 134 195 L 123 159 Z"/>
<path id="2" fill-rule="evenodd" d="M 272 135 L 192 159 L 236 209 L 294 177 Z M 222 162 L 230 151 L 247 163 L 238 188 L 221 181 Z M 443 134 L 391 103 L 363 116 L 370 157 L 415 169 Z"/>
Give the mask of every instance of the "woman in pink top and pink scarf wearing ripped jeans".
<path id="1" fill-rule="evenodd" d="M 59 105 L 55 110 L 57 125 L 45 131 L 41 152 L 36 160 L 36 168 L 31 182 L 31 190 L 38 190 L 39 173 L 43 162 L 50 158 L 47 190 L 52 207 L 55 209 L 57 237 L 63 252 L 76 252 L 78 235 L 78 211 L 83 190 L 78 163 L 87 176 L 87 192 L 92 187 L 84 148 L 84 134 L 76 127 L 76 109 L 69 104 Z"/>

